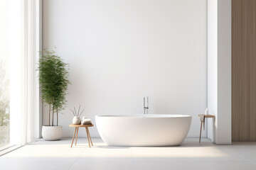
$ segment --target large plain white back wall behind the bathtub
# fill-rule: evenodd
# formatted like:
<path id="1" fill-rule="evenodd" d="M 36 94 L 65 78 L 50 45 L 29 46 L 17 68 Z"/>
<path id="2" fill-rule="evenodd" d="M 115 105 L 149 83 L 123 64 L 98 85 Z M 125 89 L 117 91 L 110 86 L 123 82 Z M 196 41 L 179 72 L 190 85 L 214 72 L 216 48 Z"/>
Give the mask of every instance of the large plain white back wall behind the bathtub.
<path id="1" fill-rule="evenodd" d="M 149 113 L 192 115 L 188 137 L 198 137 L 206 14 L 206 0 L 43 1 L 43 47 L 58 47 L 70 64 L 68 108 L 81 104 L 95 123 L 100 114 L 142 114 L 149 96 Z M 72 113 L 63 113 L 63 135 L 71 137 Z M 99 136 L 97 128 L 91 135 Z"/>

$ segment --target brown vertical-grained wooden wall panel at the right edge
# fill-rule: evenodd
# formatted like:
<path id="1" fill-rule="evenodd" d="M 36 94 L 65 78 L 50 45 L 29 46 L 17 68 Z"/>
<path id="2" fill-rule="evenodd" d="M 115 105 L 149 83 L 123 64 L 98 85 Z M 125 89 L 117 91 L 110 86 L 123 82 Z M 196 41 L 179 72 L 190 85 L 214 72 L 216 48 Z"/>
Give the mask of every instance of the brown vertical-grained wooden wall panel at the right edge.
<path id="1" fill-rule="evenodd" d="M 256 0 L 232 0 L 232 140 L 256 141 Z"/>

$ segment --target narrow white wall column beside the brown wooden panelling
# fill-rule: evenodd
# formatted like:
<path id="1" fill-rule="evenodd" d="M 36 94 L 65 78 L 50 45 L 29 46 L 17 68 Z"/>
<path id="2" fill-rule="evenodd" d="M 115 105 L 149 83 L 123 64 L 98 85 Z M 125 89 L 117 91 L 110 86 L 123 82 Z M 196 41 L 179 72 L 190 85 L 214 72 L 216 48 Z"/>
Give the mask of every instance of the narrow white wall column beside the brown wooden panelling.
<path id="1" fill-rule="evenodd" d="M 231 0 L 208 0 L 208 108 L 208 138 L 231 144 Z"/>

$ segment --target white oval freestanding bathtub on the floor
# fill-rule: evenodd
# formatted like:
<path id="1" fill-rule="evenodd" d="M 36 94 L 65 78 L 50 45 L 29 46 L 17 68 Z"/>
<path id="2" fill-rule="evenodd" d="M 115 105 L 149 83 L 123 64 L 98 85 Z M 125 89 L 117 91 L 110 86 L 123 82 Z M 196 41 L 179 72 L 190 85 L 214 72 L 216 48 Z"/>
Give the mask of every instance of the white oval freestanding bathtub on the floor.
<path id="1" fill-rule="evenodd" d="M 111 146 L 181 145 L 191 115 L 96 115 L 97 130 Z"/>

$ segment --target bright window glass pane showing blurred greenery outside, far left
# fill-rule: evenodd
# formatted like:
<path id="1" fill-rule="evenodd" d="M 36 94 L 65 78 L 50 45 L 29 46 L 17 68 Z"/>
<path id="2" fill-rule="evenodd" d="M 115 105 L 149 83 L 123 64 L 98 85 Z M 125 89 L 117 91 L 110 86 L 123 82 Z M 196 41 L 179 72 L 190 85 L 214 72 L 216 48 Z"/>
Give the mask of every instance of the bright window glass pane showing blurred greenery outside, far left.
<path id="1" fill-rule="evenodd" d="M 10 142 L 9 1 L 0 2 L 0 148 Z"/>

